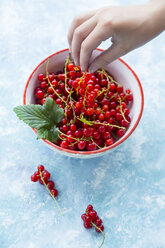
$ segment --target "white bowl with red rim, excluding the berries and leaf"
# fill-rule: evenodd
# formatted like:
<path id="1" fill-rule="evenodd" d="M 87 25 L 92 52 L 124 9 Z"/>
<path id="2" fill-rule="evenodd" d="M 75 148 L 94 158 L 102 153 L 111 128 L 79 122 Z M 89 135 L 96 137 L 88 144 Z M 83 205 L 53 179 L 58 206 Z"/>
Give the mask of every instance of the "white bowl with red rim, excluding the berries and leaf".
<path id="1" fill-rule="evenodd" d="M 100 54 L 103 50 L 96 49 L 93 52 L 93 57 Z M 37 75 L 39 73 L 46 72 L 46 63 L 49 60 L 49 71 L 57 72 L 62 70 L 65 64 L 65 60 L 68 57 L 69 49 L 65 49 L 59 52 L 56 52 L 46 59 L 44 59 L 32 72 L 30 75 L 24 90 L 23 95 L 23 103 L 29 104 L 34 103 L 34 89 L 38 85 Z M 118 141 L 116 141 L 113 145 L 96 150 L 96 151 L 72 151 L 61 148 L 48 140 L 43 139 L 44 144 L 46 144 L 49 148 L 53 149 L 54 151 L 60 152 L 61 154 L 70 156 L 70 157 L 80 157 L 80 158 L 92 158 L 96 156 L 101 156 L 106 154 L 109 151 L 114 150 L 115 147 L 120 145 L 123 141 L 125 141 L 131 133 L 137 127 L 142 112 L 143 112 L 143 105 L 144 105 L 144 96 L 141 83 L 135 74 L 135 72 L 127 65 L 122 59 L 118 59 L 111 63 L 110 65 L 106 66 L 105 69 L 109 71 L 115 78 L 116 81 L 121 83 L 124 89 L 129 88 L 133 93 L 133 102 L 130 107 L 130 117 L 131 123 L 123 137 L 121 137 Z M 34 129 L 33 129 L 34 130 Z M 34 130 L 35 131 L 35 130 Z M 36 131 L 35 131 L 36 132 Z"/>

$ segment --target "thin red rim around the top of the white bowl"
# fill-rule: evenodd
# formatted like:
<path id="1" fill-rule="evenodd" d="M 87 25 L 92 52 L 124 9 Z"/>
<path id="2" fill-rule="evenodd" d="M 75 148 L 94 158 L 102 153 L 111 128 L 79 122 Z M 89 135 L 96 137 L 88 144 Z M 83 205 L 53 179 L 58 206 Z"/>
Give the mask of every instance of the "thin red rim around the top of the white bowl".
<path id="1" fill-rule="evenodd" d="M 34 74 L 34 72 L 38 69 L 38 67 L 40 67 L 41 64 L 43 64 L 46 60 L 48 60 L 49 58 L 53 57 L 54 55 L 56 54 L 59 54 L 59 53 L 62 53 L 62 52 L 65 52 L 65 51 L 68 51 L 69 48 L 66 48 L 66 49 L 63 49 L 63 50 L 60 50 L 56 53 L 53 53 L 51 54 L 50 56 L 48 56 L 47 58 L 45 58 L 43 61 L 41 61 L 39 63 L 39 65 L 32 71 L 31 75 L 29 76 L 28 80 L 27 80 L 27 83 L 25 85 L 25 89 L 24 89 L 24 93 L 23 93 L 23 104 L 26 105 L 26 92 L 27 92 L 27 88 L 28 88 L 28 85 L 29 85 L 29 82 L 32 78 L 32 75 Z M 96 50 L 98 51 L 104 51 L 103 49 L 100 49 L 100 48 L 96 48 Z M 138 83 L 138 86 L 139 86 L 139 89 L 140 89 L 140 93 L 141 93 L 141 97 L 142 97 L 142 101 L 141 101 L 141 109 L 140 109 L 140 113 L 139 113 L 139 116 L 137 118 L 137 121 L 135 122 L 134 126 L 132 127 L 132 129 L 128 132 L 128 134 L 126 136 L 124 136 L 123 138 L 120 138 L 117 142 L 115 142 L 114 144 L 112 144 L 111 146 L 108 146 L 108 147 L 105 147 L 105 148 L 102 148 L 102 149 L 99 149 L 99 150 L 95 150 L 95 151 L 72 151 L 72 150 L 68 150 L 68 149 L 65 149 L 65 148 L 62 148 L 60 146 L 57 146 L 55 144 L 53 144 L 52 142 L 46 140 L 46 139 L 42 139 L 45 143 L 47 143 L 48 145 L 52 146 L 53 148 L 56 148 L 60 151 L 63 151 L 63 152 L 67 152 L 67 153 L 72 153 L 72 154 L 81 154 L 81 155 L 91 155 L 91 154 L 97 154 L 97 153 L 102 153 L 102 152 L 105 152 L 107 150 L 110 150 L 116 146 L 118 146 L 119 144 L 121 144 L 122 142 L 124 142 L 130 135 L 131 133 L 135 130 L 135 128 L 137 127 L 139 121 L 140 121 L 140 118 L 142 116 L 142 113 L 143 113 L 143 107 L 144 107 L 144 95 L 143 95 L 143 89 L 142 89 L 142 86 L 141 86 L 141 83 L 140 83 L 140 80 L 138 78 L 138 76 L 136 75 L 136 73 L 132 70 L 132 68 L 121 58 L 118 59 L 120 62 L 122 62 L 131 72 L 132 74 L 134 75 L 135 79 L 137 80 L 137 83 Z M 37 133 L 36 129 L 32 128 L 33 131 L 35 133 Z"/>

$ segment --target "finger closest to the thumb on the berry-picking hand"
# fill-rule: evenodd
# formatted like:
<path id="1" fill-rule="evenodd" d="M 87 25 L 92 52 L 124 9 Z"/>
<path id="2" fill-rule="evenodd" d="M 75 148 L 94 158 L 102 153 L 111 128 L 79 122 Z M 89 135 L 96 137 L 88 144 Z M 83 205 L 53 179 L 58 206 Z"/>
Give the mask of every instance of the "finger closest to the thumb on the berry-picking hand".
<path id="1" fill-rule="evenodd" d="M 97 25 L 93 31 L 81 43 L 80 65 L 82 71 L 86 71 L 89 66 L 92 51 L 97 48 L 103 40 L 106 40 L 111 33 L 104 32 L 100 25 Z"/>

